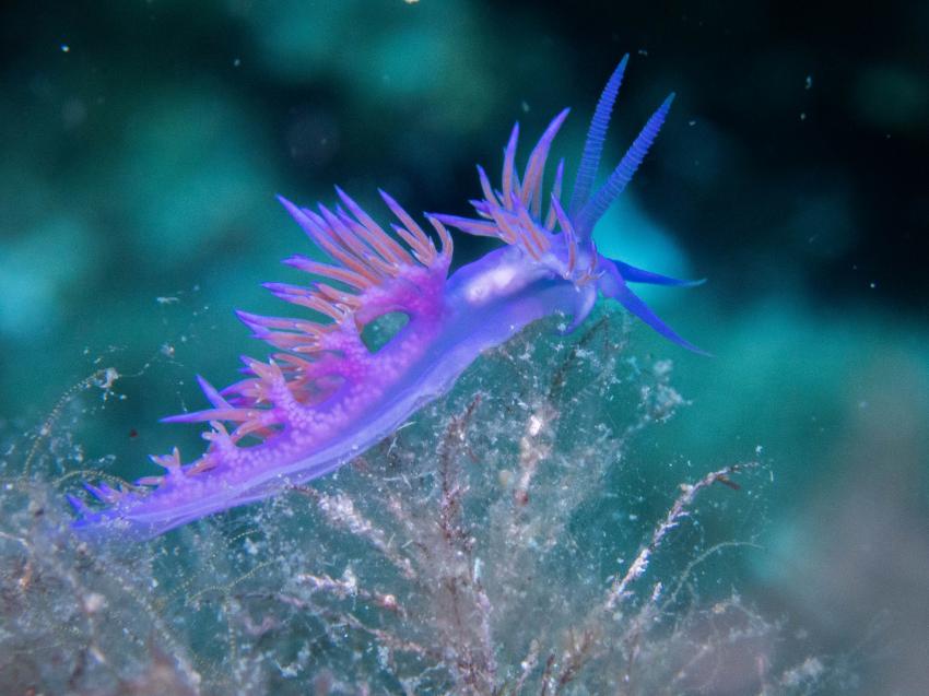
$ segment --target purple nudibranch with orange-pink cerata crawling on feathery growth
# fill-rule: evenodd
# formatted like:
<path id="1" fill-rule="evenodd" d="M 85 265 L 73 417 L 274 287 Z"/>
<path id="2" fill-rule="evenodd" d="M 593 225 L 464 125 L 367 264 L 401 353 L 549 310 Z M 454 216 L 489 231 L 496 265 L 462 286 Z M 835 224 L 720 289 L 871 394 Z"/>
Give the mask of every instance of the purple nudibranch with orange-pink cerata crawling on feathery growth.
<path id="1" fill-rule="evenodd" d="M 658 134 L 671 94 L 648 119 L 605 182 L 595 175 L 627 56 L 597 104 L 571 199 L 562 196 L 564 162 L 545 189 L 549 150 L 568 110 L 558 114 L 516 168 L 518 123 L 504 150 L 499 188 L 478 167 L 483 198 L 474 219 L 426 214 L 433 238 L 390 196 L 393 234 L 337 188 L 340 203 L 304 209 L 281 203 L 330 257 L 294 256 L 284 263 L 316 280 L 307 286 L 269 283 L 274 295 L 309 309 L 304 318 L 239 311 L 254 335 L 279 352 L 244 357 L 245 378 L 214 389 L 199 378 L 210 408 L 165 418 L 208 423 L 205 451 L 184 463 L 177 449 L 152 457 L 160 476 L 133 487 L 85 487 L 104 505 L 69 496 L 74 527 L 148 539 L 222 510 L 261 500 L 342 467 L 444 394 L 484 351 L 551 315 L 565 332 L 579 326 L 598 296 L 613 298 L 671 341 L 696 351 L 662 322 L 628 283 L 692 285 L 597 252 L 593 226 L 623 191 Z M 543 214 L 544 213 L 544 214 Z M 504 244 L 451 275 L 448 227 Z M 389 315 L 407 322 L 384 345 L 368 346 L 366 326 Z M 568 321 L 569 318 L 569 321 Z"/>

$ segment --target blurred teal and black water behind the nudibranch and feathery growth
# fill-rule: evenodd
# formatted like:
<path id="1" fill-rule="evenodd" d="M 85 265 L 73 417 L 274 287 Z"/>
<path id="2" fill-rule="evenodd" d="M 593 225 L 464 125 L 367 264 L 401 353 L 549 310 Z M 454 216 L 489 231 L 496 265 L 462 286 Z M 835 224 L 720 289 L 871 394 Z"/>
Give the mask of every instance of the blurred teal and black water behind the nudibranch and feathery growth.
<path id="1" fill-rule="evenodd" d="M 39 424 L 102 365 L 125 401 L 89 459 L 141 473 L 196 434 L 193 373 L 261 352 L 235 307 L 308 244 L 274 201 L 466 213 L 562 107 L 576 162 L 616 61 L 616 161 L 678 99 L 601 250 L 706 276 L 649 295 L 712 359 L 637 328 L 692 402 L 643 464 L 771 465 L 740 589 L 860 660 L 862 693 L 929 664 L 929 5 L 212 0 L 0 10 L 0 423 Z M 524 145 L 522 153 L 526 148 Z M 456 239 L 457 262 L 482 240 Z M 186 439 L 185 439 L 186 438 Z M 668 484 L 680 471 L 668 475 Z M 662 481 L 662 473 L 644 470 Z M 662 483 L 663 485 L 663 483 Z M 733 520 L 732 534 L 745 520 Z M 719 522 L 725 523 L 725 520 Z M 862 657 L 865 656 L 865 657 Z"/>

